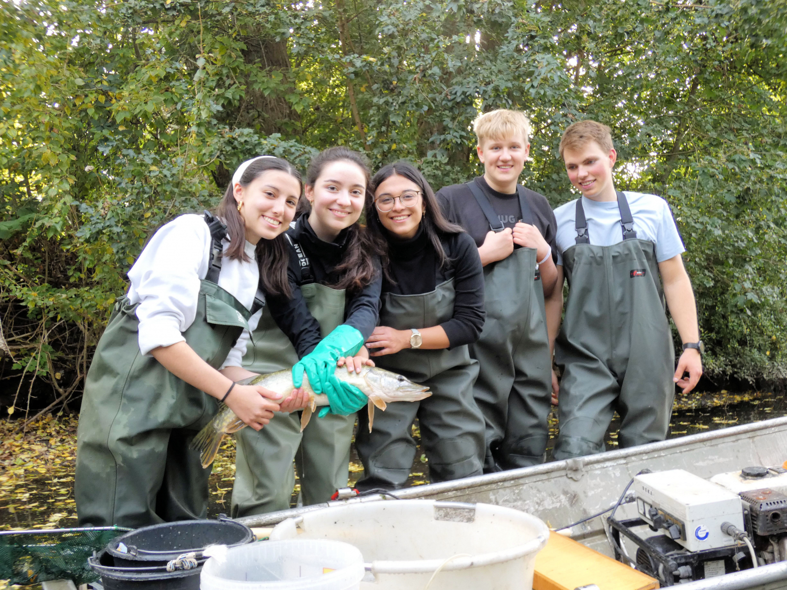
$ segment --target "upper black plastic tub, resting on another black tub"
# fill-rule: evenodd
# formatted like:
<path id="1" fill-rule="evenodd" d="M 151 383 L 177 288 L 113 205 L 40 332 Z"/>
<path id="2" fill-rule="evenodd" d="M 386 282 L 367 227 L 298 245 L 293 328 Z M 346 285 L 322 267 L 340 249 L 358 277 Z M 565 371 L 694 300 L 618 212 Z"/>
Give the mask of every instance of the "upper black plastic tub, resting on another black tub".
<path id="1" fill-rule="evenodd" d="M 179 555 L 193 551 L 202 562 L 201 551 L 208 545 L 238 547 L 253 539 L 248 526 L 220 517 L 143 526 L 113 539 L 106 551 L 113 557 L 115 566 L 166 566 Z"/>

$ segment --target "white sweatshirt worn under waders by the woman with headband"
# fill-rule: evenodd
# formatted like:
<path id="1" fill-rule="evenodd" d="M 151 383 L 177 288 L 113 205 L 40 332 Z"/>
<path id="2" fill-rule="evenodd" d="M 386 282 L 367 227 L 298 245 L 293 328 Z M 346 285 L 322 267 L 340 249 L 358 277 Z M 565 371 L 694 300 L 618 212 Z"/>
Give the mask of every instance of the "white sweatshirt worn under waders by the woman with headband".
<path id="1" fill-rule="evenodd" d="M 229 240 L 222 245 L 227 251 Z M 185 341 L 185 332 L 197 315 L 200 281 L 208 274 L 210 230 L 199 215 L 182 215 L 161 227 L 128 271 L 131 286 L 128 299 L 139 303 L 139 350 L 149 355 L 153 348 Z M 231 293 L 246 309 L 257 294 L 260 270 L 254 258 L 255 246 L 246 242 L 249 262 L 223 258 L 219 286 Z M 249 330 L 257 327 L 261 312 L 249 319 Z M 240 367 L 249 336 L 238 338 L 227 355 L 224 367 Z"/>

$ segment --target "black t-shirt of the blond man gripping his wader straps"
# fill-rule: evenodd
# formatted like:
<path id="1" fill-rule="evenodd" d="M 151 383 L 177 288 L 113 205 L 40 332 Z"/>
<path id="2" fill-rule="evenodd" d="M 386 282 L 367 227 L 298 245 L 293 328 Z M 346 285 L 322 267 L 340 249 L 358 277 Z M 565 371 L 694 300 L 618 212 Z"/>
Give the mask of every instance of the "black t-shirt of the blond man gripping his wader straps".
<path id="1" fill-rule="evenodd" d="M 478 176 L 475 181 L 490 200 L 492 208 L 504 226 L 514 227 L 516 222 L 522 217 L 519 198 L 516 193 L 505 194 L 493 190 L 486 183 L 483 176 Z M 464 227 L 464 230 L 475 240 L 476 246 L 482 245 L 491 227 L 481 206 L 478 205 L 478 201 L 475 200 L 467 185 L 453 184 L 444 186 L 438 190 L 437 197 L 442 211 L 449 221 L 459 223 Z M 530 223 L 538 227 L 546 243 L 552 246 L 552 260 L 557 261 L 557 245 L 555 242 L 557 222 L 555 214 L 552 212 L 552 207 L 549 206 L 549 201 L 546 200 L 544 195 L 528 188 L 525 188 L 525 198 L 527 199 L 527 204 L 530 205 L 530 212 L 533 215 Z M 513 221 L 512 216 L 514 218 Z"/>

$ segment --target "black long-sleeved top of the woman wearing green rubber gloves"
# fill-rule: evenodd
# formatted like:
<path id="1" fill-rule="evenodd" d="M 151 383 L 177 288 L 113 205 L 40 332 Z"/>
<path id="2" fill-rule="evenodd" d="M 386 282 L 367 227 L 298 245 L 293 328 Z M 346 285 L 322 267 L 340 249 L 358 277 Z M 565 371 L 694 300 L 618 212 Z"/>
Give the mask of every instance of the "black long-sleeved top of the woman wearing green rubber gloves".
<path id="1" fill-rule="evenodd" d="M 312 226 L 309 225 L 307 215 L 297 219 L 295 227 L 287 230 L 287 234 L 301 245 L 301 249 L 309 258 L 314 282 L 320 285 L 334 286 L 341 275 L 334 269 L 342 263 L 347 248 L 347 230 L 342 230 L 333 242 L 323 242 L 317 238 Z M 379 262 L 377 263 L 379 264 Z M 345 301 L 344 323 L 353 326 L 366 340 L 375 330 L 380 306 L 380 287 L 382 273 L 363 290 L 347 297 Z M 293 297 L 288 299 L 283 296 L 268 296 L 268 309 L 275 323 L 286 334 L 295 347 L 298 358 L 303 358 L 312 352 L 314 347 L 323 339 L 320 333 L 320 323 L 306 307 L 301 289 L 301 264 L 297 253 L 290 246 L 290 264 L 287 268 L 290 278 L 290 289 Z"/>

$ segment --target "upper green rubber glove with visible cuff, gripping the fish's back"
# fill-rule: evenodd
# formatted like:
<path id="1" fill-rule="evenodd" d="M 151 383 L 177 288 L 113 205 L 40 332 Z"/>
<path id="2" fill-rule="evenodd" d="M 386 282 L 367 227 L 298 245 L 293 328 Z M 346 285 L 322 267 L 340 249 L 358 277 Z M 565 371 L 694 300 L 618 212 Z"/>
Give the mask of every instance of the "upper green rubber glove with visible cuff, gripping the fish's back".
<path id="1" fill-rule="evenodd" d="M 324 337 L 312 352 L 293 365 L 293 385 L 303 385 L 303 374 L 309 377 L 314 393 L 328 393 L 326 383 L 334 376 L 340 356 L 353 356 L 364 345 L 364 335 L 353 326 L 342 324 Z M 336 391 L 336 385 L 333 386 Z M 352 413 L 352 412 L 350 412 Z"/>

